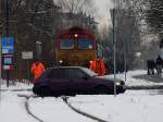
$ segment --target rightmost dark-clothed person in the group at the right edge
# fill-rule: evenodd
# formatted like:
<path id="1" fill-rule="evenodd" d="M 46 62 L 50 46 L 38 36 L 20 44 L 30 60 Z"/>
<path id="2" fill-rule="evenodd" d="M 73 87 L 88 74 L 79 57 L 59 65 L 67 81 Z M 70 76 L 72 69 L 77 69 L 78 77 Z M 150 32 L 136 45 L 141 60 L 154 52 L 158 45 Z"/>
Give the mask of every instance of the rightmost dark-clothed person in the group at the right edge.
<path id="1" fill-rule="evenodd" d="M 156 61 L 155 61 L 155 66 L 156 66 L 158 74 L 162 73 L 162 65 L 163 65 L 163 60 L 160 56 L 158 56 Z"/>

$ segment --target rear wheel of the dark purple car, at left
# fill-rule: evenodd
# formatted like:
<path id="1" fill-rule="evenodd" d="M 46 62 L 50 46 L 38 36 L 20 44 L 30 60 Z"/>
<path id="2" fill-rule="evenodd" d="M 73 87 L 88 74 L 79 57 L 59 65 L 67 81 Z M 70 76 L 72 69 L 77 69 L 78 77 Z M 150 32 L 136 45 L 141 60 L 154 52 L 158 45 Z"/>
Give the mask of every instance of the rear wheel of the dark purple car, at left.
<path id="1" fill-rule="evenodd" d="M 47 96 L 51 96 L 51 90 L 49 87 L 40 87 L 39 88 L 39 96 L 40 97 L 47 97 Z"/>

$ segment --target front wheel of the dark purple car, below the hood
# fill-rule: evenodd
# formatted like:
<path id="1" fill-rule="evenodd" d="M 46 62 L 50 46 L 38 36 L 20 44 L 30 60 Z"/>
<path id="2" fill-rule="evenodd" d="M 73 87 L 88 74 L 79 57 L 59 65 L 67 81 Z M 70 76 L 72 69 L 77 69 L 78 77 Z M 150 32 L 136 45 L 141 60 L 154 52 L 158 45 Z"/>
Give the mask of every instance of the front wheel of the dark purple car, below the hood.
<path id="1" fill-rule="evenodd" d="M 106 87 L 106 86 L 97 86 L 96 88 L 95 88 L 95 93 L 97 94 L 97 95 L 105 95 L 105 94 L 109 94 L 109 88 Z"/>

